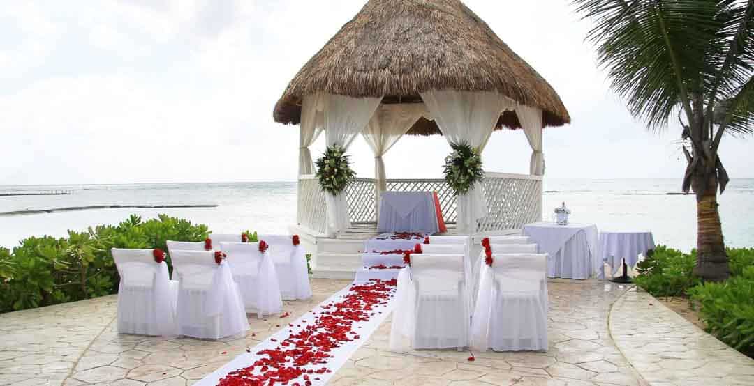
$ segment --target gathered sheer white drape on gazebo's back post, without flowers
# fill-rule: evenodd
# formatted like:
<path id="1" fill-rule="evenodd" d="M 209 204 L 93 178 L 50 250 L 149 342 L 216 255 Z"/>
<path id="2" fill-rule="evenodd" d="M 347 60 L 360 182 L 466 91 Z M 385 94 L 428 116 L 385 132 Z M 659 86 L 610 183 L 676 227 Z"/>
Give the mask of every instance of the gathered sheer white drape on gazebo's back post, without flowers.
<path id="1" fill-rule="evenodd" d="M 398 139 L 411 129 L 414 123 L 426 115 L 426 108 L 421 103 L 380 105 L 361 133 L 366 143 L 375 154 L 375 202 L 379 220 L 379 199 L 388 189 L 385 162 L 382 156 L 390 150 Z"/>

